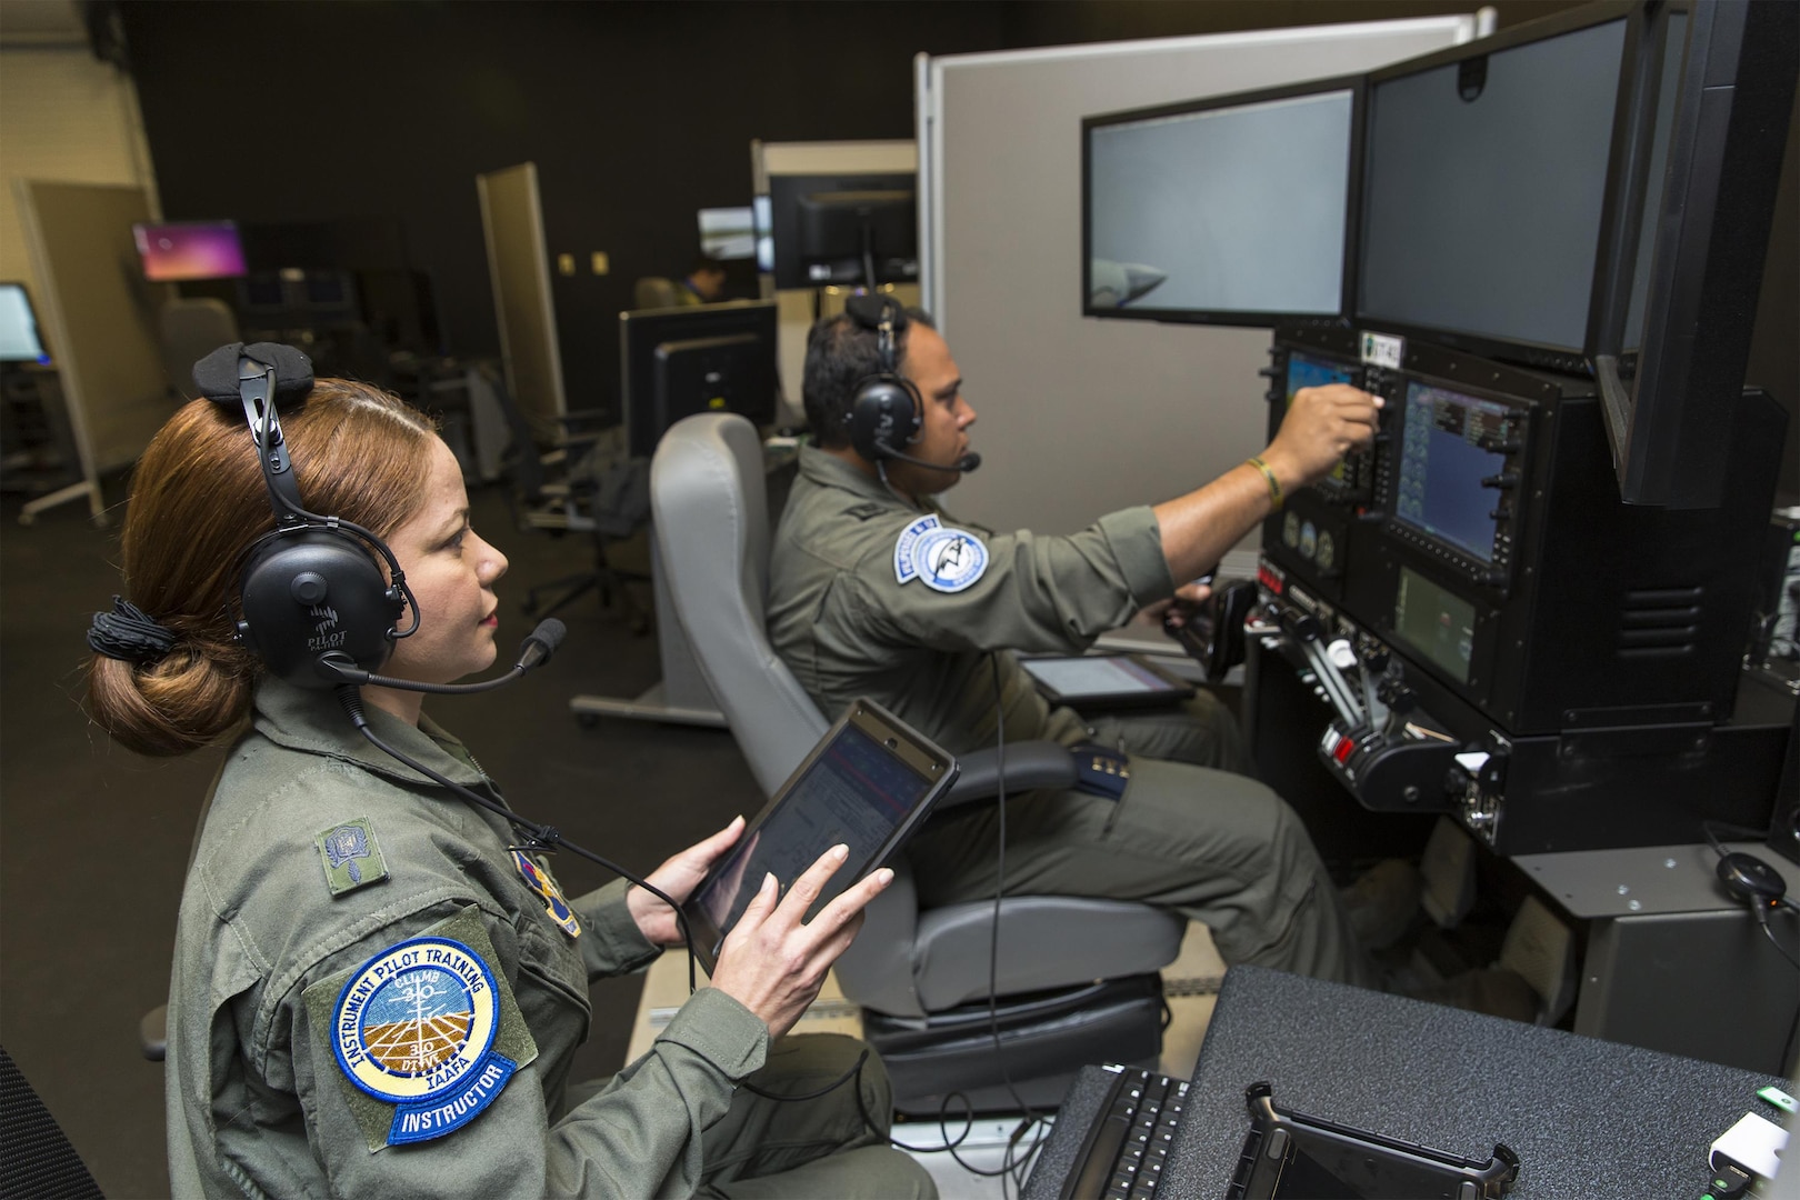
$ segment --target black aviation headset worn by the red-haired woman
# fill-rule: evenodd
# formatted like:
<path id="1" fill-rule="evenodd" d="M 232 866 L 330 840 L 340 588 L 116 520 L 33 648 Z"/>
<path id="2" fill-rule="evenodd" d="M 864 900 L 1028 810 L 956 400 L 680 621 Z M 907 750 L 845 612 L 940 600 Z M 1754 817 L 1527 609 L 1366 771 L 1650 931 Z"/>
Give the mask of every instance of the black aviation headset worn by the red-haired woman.
<path id="1" fill-rule="evenodd" d="M 311 360 L 292 345 L 232 342 L 194 363 L 194 385 L 227 410 L 243 405 L 275 513 L 275 529 L 241 556 L 238 640 L 299 687 L 355 682 L 346 667 L 358 675 L 380 669 L 394 640 L 419 628 L 419 610 L 385 542 L 301 504 L 279 412 L 311 392 Z M 376 556 L 387 563 L 389 579 Z M 400 630 L 409 606 L 412 621 Z"/>

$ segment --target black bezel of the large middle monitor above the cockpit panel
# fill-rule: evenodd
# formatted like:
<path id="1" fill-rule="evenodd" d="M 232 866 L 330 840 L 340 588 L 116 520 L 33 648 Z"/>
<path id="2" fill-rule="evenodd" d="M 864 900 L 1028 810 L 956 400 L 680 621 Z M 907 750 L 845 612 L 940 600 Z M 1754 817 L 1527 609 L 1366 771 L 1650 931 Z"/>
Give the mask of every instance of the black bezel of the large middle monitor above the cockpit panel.
<path id="1" fill-rule="evenodd" d="M 1613 22 L 1622 22 L 1624 31 L 1613 88 L 1613 117 L 1606 158 L 1595 164 L 1595 169 L 1604 173 L 1604 180 L 1600 187 L 1598 221 L 1593 237 L 1593 270 L 1586 279 L 1586 317 L 1582 318 L 1580 336 L 1575 338 L 1577 344 L 1561 345 L 1544 340 L 1508 336 L 1492 329 L 1435 326 L 1417 318 L 1372 311 L 1366 291 L 1372 275 L 1379 275 L 1379 272 L 1373 272 L 1370 266 L 1370 255 L 1381 252 L 1381 246 L 1377 245 L 1379 239 L 1372 236 L 1370 223 L 1375 219 L 1373 191 L 1381 185 L 1381 164 L 1375 160 L 1375 126 L 1381 119 L 1379 106 L 1382 88 L 1397 81 L 1413 79 L 1417 76 L 1453 67 L 1458 72 L 1458 88 L 1474 88 L 1474 94 L 1480 95 L 1480 90 L 1485 88 L 1489 59 L 1492 59 L 1492 56 L 1550 41 L 1553 38 L 1577 34 L 1598 25 L 1609 25 Z M 1526 367 L 1564 371 L 1571 374 L 1591 372 L 1591 356 L 1598 345 L 1602 313 L 1607 304 L 1607 279 L 1611 275 L 1611 259 L 1616 245 L 1615 227 L 1620 219 L 1620 203 L 1625 191 L 1624 146 L 1625 131 L 1631 124 L 1633 88 L 1636 79 L 1634 63 L 1638 59 L 1642 36 L 1643 5 L 1638 0 L 1595 0 L 1593 4 L 1584 4 L 1566 13 L 1516 25 L 1514 29 L 1501 31 L 1489 38 L 1480 38 L 1460 47 L 1451 47 L 1435 54 L 1397 63 L 1393 67 L 1384 67 L 1368 76 L 1363 130 L 1366 160 L 1363 164 L 1361 212 L 1357 218 L 1361 234 L 1357 252 L 1357 291 L 1350 306 L 1357 327 L 1417 336 L 1438 345 L 1483 354 L 1501 362 L 1514 362 Z M 1449 95 L 1447 103 L 1458 103 L 1458 95 Z"/>

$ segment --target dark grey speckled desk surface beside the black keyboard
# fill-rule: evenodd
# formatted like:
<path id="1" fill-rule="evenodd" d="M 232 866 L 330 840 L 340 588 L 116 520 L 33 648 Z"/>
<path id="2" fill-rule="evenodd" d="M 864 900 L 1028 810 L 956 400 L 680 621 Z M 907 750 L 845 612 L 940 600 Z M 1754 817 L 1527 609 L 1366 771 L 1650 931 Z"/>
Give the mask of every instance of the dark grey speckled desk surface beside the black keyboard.
<path id="1" fill-rule="evenodd" d="M 1472 1159 L 1507 1142 L 1519 1200 L 1697 1196 L 1706 1150 L 1782 1085 L 1733 1067 L 1582 1038 L 1255 966 L 1226 973 L 1163 1191 L 1224 1196 L 1249 1115 L 1244 1088 Z M 1064 1101 L 1024 1200 L 1055 1200 L 1109 1078 L 1089 1067 Z"/>

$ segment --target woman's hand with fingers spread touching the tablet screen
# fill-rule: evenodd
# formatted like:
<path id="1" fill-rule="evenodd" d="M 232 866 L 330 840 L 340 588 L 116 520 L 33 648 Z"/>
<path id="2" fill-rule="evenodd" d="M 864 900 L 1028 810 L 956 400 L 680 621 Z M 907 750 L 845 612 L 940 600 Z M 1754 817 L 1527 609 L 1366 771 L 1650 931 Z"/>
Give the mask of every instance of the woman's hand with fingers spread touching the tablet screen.
<path id="1" fill-rule="evenodd" d="M 776 876 L 763 876 L 761 891 L 720 946 L 713 986 L 761 1016 L 770 1038 L 792 1029 L 819 995 L 824 973 L 862 928 L 862 909 L 895 878 L 882 867 L 844 889 L 810 925 L 801 923 L 848 855 L 846 846 L 824 851 L 779 903 Z"/>

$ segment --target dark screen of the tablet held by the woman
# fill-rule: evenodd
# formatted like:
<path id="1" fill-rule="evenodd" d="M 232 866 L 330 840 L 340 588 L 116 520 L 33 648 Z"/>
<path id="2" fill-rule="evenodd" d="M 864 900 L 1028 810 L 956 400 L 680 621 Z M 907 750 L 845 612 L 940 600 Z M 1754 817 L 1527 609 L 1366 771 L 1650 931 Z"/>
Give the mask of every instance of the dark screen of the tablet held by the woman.
<path id="1" fill-rule="evenodd" d="M 765 874 L 772 873 L 787 891 L 819 855 L 842 842 L 850 846 L 850 858 L 826 882 L 814 903 L 817 910 L 860 878 L 864 864 L 905 824 L 936 783 L 855 725 L 844 725 L 787 790 L 783 802 L 718 864 L 695 903 L 713 928 L 727 934 Z"/>

